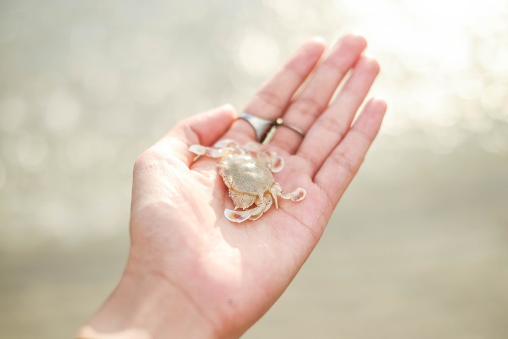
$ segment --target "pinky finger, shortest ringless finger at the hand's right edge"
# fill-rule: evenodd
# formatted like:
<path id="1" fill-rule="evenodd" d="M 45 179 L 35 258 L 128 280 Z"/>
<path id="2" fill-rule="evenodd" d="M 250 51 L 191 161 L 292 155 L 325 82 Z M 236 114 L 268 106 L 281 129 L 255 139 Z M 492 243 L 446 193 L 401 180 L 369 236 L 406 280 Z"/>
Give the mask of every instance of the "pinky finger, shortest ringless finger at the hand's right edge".
<path id="1" fill-rule="evenodd" d="M 384 100 L 371 99 L 344 139 L 314 176 L 314 182 L 330 197 L 333 206 L 337 204 L 358 172 L 367 150 L 379 131 L 386 108 Z"/>

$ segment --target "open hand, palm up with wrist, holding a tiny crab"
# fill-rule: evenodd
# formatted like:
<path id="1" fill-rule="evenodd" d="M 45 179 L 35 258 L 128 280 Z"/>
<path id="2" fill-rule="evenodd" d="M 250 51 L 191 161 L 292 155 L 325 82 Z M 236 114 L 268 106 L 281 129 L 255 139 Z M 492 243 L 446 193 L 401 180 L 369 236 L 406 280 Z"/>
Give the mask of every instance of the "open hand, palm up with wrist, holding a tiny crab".
<path id="1" fill-rule="evenodd" d="M 324 44 L 304 44 L 245 107 L 305 132 L 281 127 L 264 147 L 284 159 L 282 188 L 307 191 L 300 202 L 280 200 L 257 221 L 224 217 L 233 203 L 217 159 L 193 162 L 188 147 L 255 140 L 230 106 L 180 122 L 138 158 L 128 264 L 81 337 L 239 337 L 261 318 L 319 241 L 383 119 L 385 102 L 370 100 L 352 124 L 379 71 L 365 46 L 344 36 L 319 63 Z"/>

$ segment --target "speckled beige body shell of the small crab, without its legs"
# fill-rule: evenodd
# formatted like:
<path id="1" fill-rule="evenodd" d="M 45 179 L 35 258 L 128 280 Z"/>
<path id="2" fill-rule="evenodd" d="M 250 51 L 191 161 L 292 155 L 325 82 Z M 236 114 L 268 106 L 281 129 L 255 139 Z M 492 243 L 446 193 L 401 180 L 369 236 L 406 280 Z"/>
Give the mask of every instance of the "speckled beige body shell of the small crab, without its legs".
<path id="1" fill-rule="evenodd" d="M 236 208 L 247 208 L 259 197 L 263 202 L 274 184 L 272 172 L 267 164 L 249 153 L 229 155 L 220 162 L 219 174 L 230 190 L 229 195 Z"/>

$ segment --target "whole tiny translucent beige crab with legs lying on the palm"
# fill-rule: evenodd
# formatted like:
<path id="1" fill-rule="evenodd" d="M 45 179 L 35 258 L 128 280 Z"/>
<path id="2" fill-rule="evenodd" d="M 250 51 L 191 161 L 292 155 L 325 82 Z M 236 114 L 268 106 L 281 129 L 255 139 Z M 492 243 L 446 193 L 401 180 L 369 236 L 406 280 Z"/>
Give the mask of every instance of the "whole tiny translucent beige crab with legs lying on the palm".
<path id="1" fill-rule="evenodd" d="M 275 152 L 261 151 L 256 143 L 240 146 L 232 140 L 221 140 L 214 147 L 192 145 L 189 151 L 197 155 L 196 159 L 200 156 L 221 158 L 218 173 L 235 204 L 234 210 L 226 208 L 224 211 L 230 221 L 241 223 L 260 218 L 273 202 L 278 208 L 277 196 L 292 201 L 305 198 L 306 192 L 302 188 L 289 193 L 282 191 L 272 172 L 280 171 L 284 161 Z"/>

